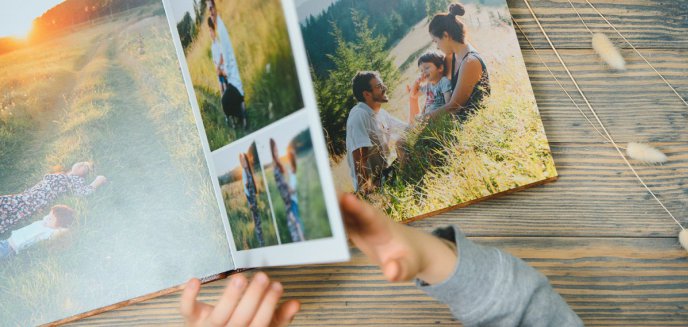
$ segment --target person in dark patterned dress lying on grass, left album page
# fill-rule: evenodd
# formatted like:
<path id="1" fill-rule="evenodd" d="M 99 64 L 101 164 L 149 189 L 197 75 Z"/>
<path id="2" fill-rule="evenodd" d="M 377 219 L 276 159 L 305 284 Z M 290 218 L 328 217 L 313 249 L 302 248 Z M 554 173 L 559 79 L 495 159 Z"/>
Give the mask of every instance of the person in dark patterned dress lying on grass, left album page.
<path id="1" fill-rule="evenodd" d="M 86 176 L 92 170 L 93 164 L 90 162 L 77 162 L 69 172 L 47 174 L 38 184 L 22 193 L 0 195 L 0 234 L 46 208 L 60 195 L 87 196 L 93 193 L 107 179 L 97 176 L 91 184 L 86 184 Z"/>

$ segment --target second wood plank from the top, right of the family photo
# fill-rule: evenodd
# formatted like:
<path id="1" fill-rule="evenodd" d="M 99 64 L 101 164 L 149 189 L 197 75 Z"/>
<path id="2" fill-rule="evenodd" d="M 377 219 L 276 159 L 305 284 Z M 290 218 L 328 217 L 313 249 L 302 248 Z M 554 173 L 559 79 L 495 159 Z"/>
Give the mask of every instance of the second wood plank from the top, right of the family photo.
<path id="1" fill-rule="evenodd" d="M 687 33 L 688 34 L 688 33 Z M 583 98 L 551 50 L 538 51 L 574 101 L 595 123 Z M 591 105 L 619 142 L 688 142 L 688 107 L 637 56 L 629 70 L 611 72 L 592 50 L 562 50 L 561 55 Z M 643 50 L 655 67 L 688 100 L 688 51 Z M 532 50 L 523 52 L 535 99 L 550 142 L 599 142 L 584 119 Z"/>

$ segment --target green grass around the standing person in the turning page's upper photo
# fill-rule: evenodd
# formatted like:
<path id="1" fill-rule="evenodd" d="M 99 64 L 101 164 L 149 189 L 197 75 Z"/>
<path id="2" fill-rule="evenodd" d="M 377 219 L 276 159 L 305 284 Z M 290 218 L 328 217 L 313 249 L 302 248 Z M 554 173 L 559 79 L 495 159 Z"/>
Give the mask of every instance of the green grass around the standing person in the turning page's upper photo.
<path id="1" fill-rule="evenodd" d="M 280 2 L 260 0 L 246 6 L 236 1 L 218 1 L 217 5 L 232 38 L 249 126 L 230 128 L 224 122 L 217 75 L 210 56 L 210 36 L 207 25 L 202 24 L 186 51 L 186 58 L 211 150 L 303 108 Z"/>

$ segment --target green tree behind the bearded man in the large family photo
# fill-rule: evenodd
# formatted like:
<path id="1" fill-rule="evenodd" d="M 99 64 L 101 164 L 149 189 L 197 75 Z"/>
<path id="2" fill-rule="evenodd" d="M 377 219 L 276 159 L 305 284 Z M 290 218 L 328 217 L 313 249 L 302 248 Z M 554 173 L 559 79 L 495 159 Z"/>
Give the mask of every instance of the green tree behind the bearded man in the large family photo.
<path id="1" fill-rule="evenodd" d="M 385 37 L 375 36 L 364 16 L 353 12 L 352 17 L 357 41 L 347 42 L 342 31 L 333 26 L 332 37 L 337 48 L 328 58 L 334 63 L 334 69 L 327 72 L 326 78 L 313 76 L 327 144 L 330 154 L 335 157 L 346 151 L 346 120 L 349 110 L 357 103 L 351 88 L 354 75 L 362 70 L 380 72 L 388 93 L 393 92 L 400 78 L 389 58 L 389 51 L 385 49 Z"/>

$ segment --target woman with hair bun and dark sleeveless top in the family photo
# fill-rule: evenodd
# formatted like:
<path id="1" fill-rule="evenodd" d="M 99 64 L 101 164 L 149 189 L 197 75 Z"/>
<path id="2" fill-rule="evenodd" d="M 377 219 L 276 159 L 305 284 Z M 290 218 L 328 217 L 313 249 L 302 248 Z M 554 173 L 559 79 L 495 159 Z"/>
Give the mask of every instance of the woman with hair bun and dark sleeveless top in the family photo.
<path id="1" fill-rule="evenodd" d="M 490 79 L 485 62 L 466 40 L 466 26 L 459 18 L 466 13 L 463 5 L 449 5 L 449 12 L 436 14 L 430 21 L 429 32 L 432 41 L 451 55 L 452 96 L 450 101 L 429 116 L 451 113 L 460 121 L 482 107 L 483 100 L 490 95 Z"/>

